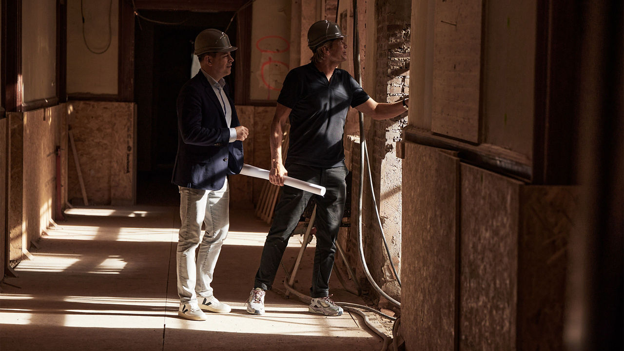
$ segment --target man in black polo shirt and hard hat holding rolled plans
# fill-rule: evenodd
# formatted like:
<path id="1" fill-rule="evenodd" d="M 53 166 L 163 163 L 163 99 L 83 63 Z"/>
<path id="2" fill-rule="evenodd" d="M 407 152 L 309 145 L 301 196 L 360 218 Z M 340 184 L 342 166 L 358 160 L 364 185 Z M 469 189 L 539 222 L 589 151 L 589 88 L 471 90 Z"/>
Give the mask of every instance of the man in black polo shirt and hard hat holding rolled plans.
<path id="1" fill-rule="evenodd" d="M 271 289 L 288 239 L 310 197 L 316 196 L 316 252 L 312 273 L 309 310 L 324 315 L 341 315 L 343 309 L 329 295 L 329 275 L 334 265 L 336 236 L 346 199 L 343 132 L 349 106 L 373 117 L 389 119 L 407 109 L 404 101 L 378 103 L 338 65 L 347 59 L 347 44 L 338 24 L 318 21 L 308 30 L 309 64 L 286 76 L 271 123 L 271 171 L 269 180 L 284 185 L 289 175 L 326 187 L 324 197 L 294 187 L 282 188 L 275 218 L 266 236 L 247 312 L 265 313 L 265 291 Z M 290 145 L 282 164 L 282 131 L 290 120 Z"/>

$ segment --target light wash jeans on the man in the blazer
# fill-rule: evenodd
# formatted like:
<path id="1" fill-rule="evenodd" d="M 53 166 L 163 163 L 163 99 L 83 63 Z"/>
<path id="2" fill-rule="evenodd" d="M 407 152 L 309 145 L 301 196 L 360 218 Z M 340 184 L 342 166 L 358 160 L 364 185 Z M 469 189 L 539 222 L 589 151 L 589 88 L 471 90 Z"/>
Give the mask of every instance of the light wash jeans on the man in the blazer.
<path id="1" fill-rule="evenodd" d="M 178 188 L 182 219 L 176 253 L 178 295 L 180 302 L 186 303 L 197 296 L 212 296 L 212 274 L 230 227 L 230 188 L 227 179 L 222 189 L 215 191 Z M 203 235 L 202 222 L 206 225 Z"/>

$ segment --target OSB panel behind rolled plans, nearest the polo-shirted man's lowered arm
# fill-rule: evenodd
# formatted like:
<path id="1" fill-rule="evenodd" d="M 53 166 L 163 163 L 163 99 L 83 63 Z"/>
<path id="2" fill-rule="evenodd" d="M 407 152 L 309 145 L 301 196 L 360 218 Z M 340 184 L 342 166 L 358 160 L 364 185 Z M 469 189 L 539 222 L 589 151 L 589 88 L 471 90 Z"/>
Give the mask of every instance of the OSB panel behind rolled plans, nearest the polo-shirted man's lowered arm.
<path id="1" fill-rule="evenodd" d="M 253 117 L 253 166 L 263 169 L 271 168 L 271 146 L 269 144 L 269 136 L 271 130 L 271 122 L 275 116 L 275 106 L 271 107 L 254 107 Z M 268 182 L 264 179 L 253 179 L 253 203 L 257 204 L 260 198 L 262 187 Z"/>

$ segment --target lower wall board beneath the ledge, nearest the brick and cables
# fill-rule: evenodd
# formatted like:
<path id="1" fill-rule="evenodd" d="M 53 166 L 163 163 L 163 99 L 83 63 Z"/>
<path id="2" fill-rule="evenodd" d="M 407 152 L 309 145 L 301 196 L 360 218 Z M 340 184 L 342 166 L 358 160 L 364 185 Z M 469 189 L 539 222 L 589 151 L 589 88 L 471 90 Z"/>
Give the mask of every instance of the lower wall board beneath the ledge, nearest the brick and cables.
<path id="1" fill-rule="evenodd" d="M 454 348 L 458 189 L 457 157 L 405 144 L 401 334 L 407 350 Z"/>

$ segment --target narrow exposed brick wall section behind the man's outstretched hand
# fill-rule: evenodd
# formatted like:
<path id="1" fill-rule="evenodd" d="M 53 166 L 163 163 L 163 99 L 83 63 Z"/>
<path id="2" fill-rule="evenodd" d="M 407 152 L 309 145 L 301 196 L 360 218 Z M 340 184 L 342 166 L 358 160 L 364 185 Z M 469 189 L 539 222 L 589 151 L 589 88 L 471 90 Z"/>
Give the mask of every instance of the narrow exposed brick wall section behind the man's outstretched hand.
<path id="1" fill-rule="evenodd" d="M 379 0 L 375 4 L 377 26 L 376 86 L 374 99 L 394 102 L 409 95 L 409 39 L 411 4 L 402 0 Z M 387 121 L 369 122 L 366 139 L 375 197 L 388 242 L 391 259 L 401 275 L 401 159 L 396 157 L 396 142 L 407 125 L 403 114 Z M 365 180 L 368 181 L 368 180 Z M 363 209 L 367 262 L 376 282 L 391 297 L 400 298 L 401 289 L 395 281 L 387 259 L 378 220 L 372 205 L 369 187 L 364 188 Z M 386 305 L 383 301 L 380 305 Z"/>

